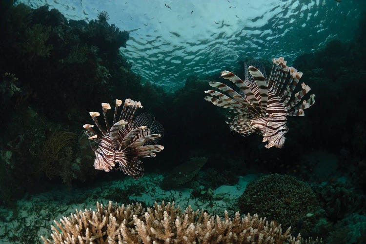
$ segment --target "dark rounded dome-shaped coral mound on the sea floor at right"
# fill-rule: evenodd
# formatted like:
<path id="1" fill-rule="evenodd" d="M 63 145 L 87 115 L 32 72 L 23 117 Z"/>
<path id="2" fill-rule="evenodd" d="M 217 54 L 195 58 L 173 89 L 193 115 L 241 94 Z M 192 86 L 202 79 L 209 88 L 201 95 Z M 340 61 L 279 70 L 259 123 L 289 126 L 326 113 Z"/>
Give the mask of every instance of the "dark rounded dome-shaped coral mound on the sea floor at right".
<path id="1" fill-rule="evenodd" d="M 309 235 L 319 203 L 310 186 L 293 176 L 270 174 L 249 183 L 238 201 L 242 212 L 258 213 L 293 232 Z"/>

